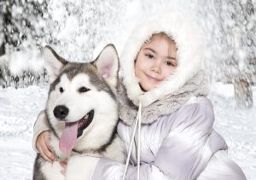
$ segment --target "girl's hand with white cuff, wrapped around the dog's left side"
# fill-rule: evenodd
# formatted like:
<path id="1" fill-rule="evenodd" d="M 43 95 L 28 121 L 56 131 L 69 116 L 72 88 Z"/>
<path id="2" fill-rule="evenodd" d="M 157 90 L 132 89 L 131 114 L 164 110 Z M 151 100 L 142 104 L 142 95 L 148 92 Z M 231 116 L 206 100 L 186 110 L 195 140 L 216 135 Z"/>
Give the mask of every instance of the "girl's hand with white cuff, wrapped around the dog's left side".
<path id="1" fill-rule="evenodd" d="M 45 111 L 41 111 L 38 114 L 33 131 L 33 149 L 41 154 L 44 160 L 49 162 L 56 160 L 55 154 L 53 154 L 49 146 L 49 124 L 46 120 Z"/>

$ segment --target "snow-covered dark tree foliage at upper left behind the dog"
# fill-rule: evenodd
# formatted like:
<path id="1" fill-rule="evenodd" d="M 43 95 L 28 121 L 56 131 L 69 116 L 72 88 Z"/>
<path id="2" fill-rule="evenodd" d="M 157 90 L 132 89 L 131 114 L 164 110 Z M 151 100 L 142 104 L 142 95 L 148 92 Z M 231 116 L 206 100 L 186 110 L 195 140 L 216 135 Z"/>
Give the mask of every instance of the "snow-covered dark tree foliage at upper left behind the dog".
<path id="1" fill-rule="evenodd" d="M 44 14 L 48 0 L 5 0 L 0 2 L 0 61 L 3 87 L 19 87 L 20 76 L 29 72 L 38 76 L 44 71 L 38 56 L 44 38 L 46 24 Z M 25 56 L 24 56 L 25 54 Z M 22 61 L 20 61 L 23 58 Z M 34 66 L 34 67 L 33 67 Z M 41 68 L 41 69 L 40 69 Z M 30 79 L 25 75 L 26 79 Z M 1 84 L 0 84 L 1 85 Z"/>

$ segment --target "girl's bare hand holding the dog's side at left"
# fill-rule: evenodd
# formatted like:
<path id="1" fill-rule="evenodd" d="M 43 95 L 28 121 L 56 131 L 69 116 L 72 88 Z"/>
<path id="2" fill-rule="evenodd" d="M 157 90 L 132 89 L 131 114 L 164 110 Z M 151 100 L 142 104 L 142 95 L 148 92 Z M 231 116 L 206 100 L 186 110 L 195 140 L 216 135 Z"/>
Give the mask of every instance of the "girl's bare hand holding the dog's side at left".
<path id="1" fill-rule="evenodd" d="M 47 160 L 50 163 L 52 163 L 54 160 L 57 160 L 55 154 L 49 146 L 49 131 L 44 131 L 38 136 L 36 146 L 44 160 Z"/>

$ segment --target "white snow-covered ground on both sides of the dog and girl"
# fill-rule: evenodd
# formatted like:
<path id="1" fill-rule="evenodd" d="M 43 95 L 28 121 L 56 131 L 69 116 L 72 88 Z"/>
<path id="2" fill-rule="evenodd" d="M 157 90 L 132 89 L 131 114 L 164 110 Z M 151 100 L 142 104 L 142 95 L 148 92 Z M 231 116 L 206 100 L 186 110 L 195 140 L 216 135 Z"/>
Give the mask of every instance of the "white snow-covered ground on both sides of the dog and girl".
<path id="1" fill-rule="evenodd" d="M 47 86 L 0 89 L 0 179 L 32 179 L 35 152 L 32 128 L 48 93 Z M 230 147 L 247 179 L 256 179 L 256 105 L 249 110 L 236 108 L 230 84 L 213 84 L 210 98 L 214 106 L 215 128 Z M 253 87 L 256 103 L 256 87 Z"/>

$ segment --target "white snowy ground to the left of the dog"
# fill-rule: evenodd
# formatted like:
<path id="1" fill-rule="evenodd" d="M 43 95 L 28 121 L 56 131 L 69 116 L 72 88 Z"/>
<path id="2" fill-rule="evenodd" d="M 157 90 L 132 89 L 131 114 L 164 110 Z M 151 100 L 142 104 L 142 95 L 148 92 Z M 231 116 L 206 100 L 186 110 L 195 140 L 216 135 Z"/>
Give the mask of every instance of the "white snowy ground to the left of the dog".
<path id="1" fill-rule="evenodd" d="M 0 89 L 0 179 L 32 179 L 32 128 L 44 108 L 47 89 Z"/>

